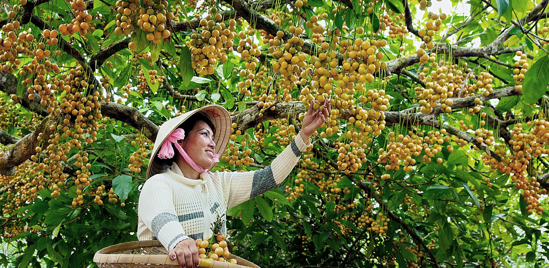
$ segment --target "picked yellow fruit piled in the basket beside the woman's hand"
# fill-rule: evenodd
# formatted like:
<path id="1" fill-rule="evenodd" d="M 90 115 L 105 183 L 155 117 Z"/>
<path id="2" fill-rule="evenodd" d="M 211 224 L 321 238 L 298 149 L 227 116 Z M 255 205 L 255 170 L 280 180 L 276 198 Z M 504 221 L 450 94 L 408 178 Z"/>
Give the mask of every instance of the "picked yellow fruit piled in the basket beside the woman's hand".
<path id="1" fill-rule="evenodd" d="M 195 243 L 198 249 L 198 258 L 237 264 L 236 259 L 229 259 L 231 258 L 231 253 L 229 252 L 223 233 L 213 237 L 205 237 L 204 240 L 198 238 L 195 240 Z"/>

